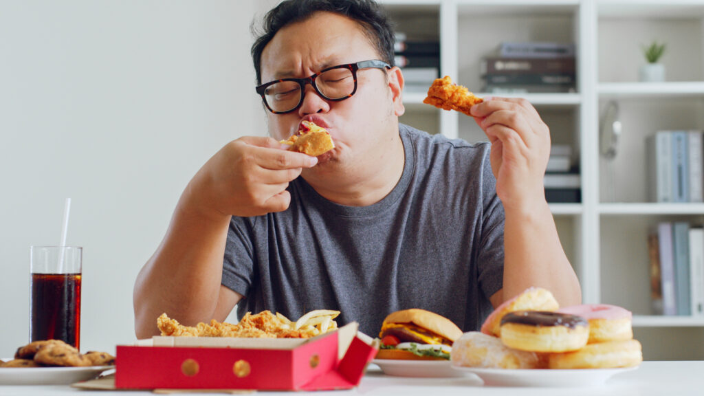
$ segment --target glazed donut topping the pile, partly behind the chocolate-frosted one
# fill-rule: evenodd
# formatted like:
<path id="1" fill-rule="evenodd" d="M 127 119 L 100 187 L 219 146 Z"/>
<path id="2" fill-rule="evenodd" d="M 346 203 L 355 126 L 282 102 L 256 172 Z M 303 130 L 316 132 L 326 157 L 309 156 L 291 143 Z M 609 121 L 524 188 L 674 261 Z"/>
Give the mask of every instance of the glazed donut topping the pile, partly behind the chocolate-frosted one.
<path id="1" fill-rule="evenodd" d="M 513 311 L 555 311 L 560 306 L 553 294 L 541 287 L 529 287 L 494 309 L 482 324 L 482 333 L 501 337 L 501 318 Z"/>

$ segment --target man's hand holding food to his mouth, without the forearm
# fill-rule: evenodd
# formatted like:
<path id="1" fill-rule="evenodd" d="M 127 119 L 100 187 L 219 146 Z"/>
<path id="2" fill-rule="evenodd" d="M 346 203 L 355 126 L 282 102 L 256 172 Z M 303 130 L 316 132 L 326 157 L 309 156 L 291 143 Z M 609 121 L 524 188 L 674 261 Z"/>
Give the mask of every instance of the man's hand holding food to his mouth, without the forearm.
<path id="1" fill-rule="evenodd" d="M 241 137 L 226 144 L 189 183 L 191 203 L 227 216 L 286 210 L 289 182 L 318 159 L 285 147 L 271 137 Z"/>

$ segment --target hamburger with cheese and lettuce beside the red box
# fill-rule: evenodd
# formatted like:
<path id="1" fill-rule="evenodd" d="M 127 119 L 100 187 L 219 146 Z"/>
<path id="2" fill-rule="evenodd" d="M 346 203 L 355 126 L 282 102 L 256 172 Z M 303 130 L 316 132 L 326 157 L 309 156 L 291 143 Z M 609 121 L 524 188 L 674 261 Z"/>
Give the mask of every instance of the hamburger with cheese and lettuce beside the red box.
<path id="1" fill-rule="evenodd" d="M 460 336 L 462 330 L 444 316 L 425 309 L 396 311 L 382 323 L 377 359 L 447 360 Z"/>

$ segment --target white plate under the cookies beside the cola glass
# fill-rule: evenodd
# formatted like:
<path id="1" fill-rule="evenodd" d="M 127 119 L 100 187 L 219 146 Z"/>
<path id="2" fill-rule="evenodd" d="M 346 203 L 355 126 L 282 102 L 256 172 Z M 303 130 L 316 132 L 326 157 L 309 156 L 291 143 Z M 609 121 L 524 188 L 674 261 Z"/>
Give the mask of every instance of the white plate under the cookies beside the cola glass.
<path id="1" fill-rule="evenodd" d="M 68 385 L 99 376 L 115 366 L 0 367 L 0 385 Z"/>

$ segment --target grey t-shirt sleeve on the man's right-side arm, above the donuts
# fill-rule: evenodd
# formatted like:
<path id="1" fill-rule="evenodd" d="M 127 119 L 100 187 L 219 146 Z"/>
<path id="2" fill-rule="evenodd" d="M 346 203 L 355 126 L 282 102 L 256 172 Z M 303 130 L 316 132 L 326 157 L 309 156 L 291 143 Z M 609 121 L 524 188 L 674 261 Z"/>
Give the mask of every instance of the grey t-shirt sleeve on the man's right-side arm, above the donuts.
<path id="1" fill-rule="evenodd" d="M 503 287 L 503 225 L 505 215 L 496 195 L 489 149 L 482 161 L 482 235 L 478 255 L 479 287 L 487 299 Z"/>

